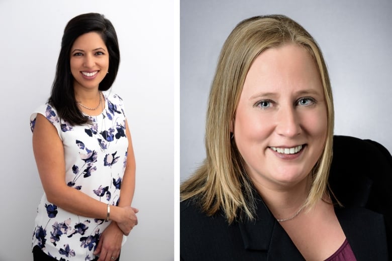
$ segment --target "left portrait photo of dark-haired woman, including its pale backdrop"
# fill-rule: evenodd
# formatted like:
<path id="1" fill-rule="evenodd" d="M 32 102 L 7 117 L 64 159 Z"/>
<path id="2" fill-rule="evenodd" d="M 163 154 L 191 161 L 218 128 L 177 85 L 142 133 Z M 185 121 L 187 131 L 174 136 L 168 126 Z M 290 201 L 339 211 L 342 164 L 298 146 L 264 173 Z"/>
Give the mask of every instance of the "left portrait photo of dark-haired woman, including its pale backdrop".
<path id="1" fill-rule="evenodd" d="M 0 15 L 0 260 L 173 260 L 173 2 Z"/>

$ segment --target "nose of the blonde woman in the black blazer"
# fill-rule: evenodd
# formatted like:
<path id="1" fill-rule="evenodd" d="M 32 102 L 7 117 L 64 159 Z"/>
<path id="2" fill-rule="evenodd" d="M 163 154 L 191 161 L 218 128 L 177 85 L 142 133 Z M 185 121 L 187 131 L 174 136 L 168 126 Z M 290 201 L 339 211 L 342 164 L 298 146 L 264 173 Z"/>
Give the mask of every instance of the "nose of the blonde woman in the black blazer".
<path id="1" fill-rule="evenodd" d="M 284 137 L 295 137 L 301 134 L 300 117 L 292 106 L 285 106 L 277 113 L 276 133 Z"/>

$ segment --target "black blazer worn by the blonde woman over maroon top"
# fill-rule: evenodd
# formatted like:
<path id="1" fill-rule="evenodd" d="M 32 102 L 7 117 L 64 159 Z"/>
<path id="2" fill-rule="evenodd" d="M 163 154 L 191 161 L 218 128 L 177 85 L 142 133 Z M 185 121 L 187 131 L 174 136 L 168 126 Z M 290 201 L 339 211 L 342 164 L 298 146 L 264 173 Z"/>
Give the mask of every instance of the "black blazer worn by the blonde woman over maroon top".
<path id="1" fill-rule="evenodd" d="M 338 220 L 358 261 L 392 253 L 392 157 L 380 144 L 334 137 L 329 184 L 344 205 Z M 256 220 L 229 225 L 208 217 L 191 199 L 180 203 L 181 260 L 304 260 L 260 196 Z"/>

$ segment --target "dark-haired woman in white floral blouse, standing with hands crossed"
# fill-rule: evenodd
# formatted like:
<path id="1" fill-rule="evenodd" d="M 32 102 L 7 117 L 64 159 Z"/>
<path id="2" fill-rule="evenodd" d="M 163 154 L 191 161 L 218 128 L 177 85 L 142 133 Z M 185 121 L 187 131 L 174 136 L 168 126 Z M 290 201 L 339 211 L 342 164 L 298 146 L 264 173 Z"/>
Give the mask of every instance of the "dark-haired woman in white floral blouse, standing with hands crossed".
<path id="1" fill-rule="evenodd" d="M 33 233 L 34 260 L 118 260 L 137 224 L 131 207 L 135 158 L 123 100 L 107 91 L 120 51 L 100 14 L 64 29 L 48 102 L 31 115 L 44 195 Z M 123 240 L 124 239 L 124 240 Z"/>

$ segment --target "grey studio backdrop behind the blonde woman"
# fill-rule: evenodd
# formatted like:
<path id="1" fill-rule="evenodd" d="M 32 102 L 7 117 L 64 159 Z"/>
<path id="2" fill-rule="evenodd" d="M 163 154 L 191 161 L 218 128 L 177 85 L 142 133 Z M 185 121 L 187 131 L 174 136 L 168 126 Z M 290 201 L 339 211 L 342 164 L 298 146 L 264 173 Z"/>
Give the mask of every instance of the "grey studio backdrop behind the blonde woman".
<path id="1" fill-rule="evenodd" d="M 181 181 L 205 158 L 207 99 L 221 47 L 237 23 L 258 15 L 286 15 L 319 43 L 332 82 L 335 134 L 372 139 L 392 153 L 391 12 L 390 0 L 181 0 Z"/>

